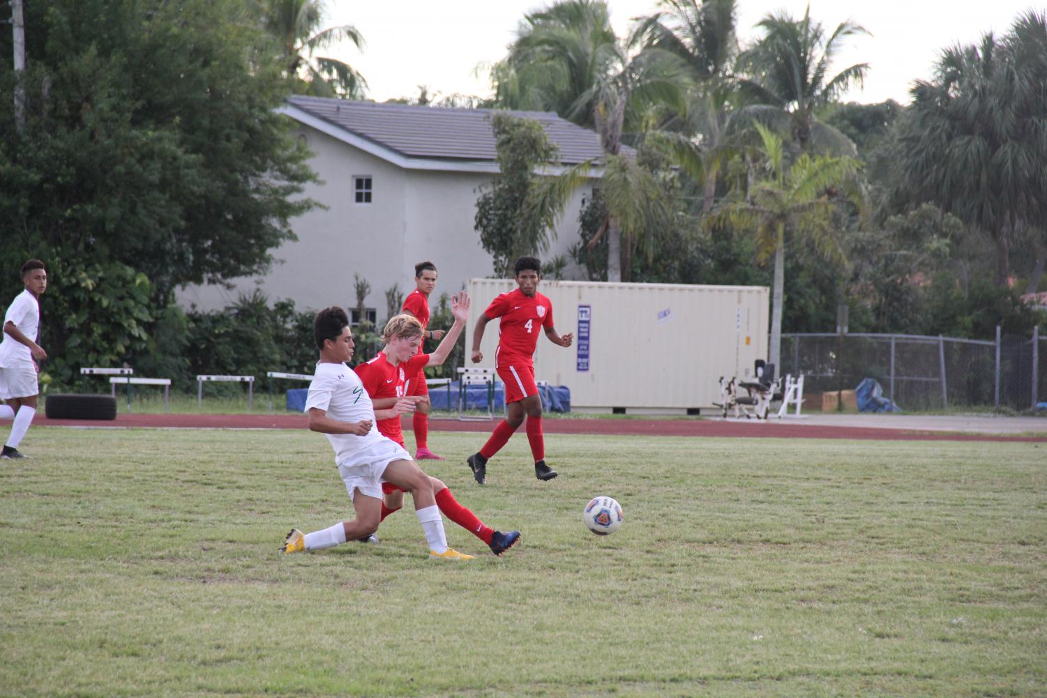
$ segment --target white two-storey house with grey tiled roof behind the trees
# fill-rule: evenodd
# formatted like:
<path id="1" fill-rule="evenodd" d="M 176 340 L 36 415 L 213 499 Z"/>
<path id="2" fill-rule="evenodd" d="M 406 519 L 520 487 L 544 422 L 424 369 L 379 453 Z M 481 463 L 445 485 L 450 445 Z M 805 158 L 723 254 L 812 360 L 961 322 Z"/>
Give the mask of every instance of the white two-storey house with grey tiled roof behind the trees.
<path id="1" fill-rule="evenodd" d="M 297 241 L 274 250 L 277 262 L 268 274 L 229 279 L 231 290 L 191 286 L 179 293 L 182 305 L 222 308 L 261 288 L 303 310 L 354 308 L 356 273 L 371 285 L 366 305 L 375 310 L 373 319 L 382 320 L 385 291 L 399 285 L 409 293 L 418 262 L 437 265 L 435 295 L 493 273 L 473 227 L 477 189 L 498 172 L 490 110 L 293 96 L 281 111 L 294 119 L 297 137 L 314 153 L 310 166 L 320 182 L 307 185 L 304 195 L 327 209 L 292 221 Z M 563 165 L 601 155 L 592 131 L 553 113 L 513 113 L 541 122 Z M 543 261 L 566 254 L 578 241 L 578 213 L 589 194 L 583 187 L 569 203 Z M 574 277 L 580 277 L 577 270 Z"/>

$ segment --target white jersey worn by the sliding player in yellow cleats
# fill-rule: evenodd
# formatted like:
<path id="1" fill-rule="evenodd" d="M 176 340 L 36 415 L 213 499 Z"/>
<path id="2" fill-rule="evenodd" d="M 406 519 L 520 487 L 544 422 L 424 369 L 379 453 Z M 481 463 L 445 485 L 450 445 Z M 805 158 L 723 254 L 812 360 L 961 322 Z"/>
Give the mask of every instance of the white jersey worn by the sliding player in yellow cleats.
<path id="1" fill-rule="evenodd" d="M 309 386 L 306 412 L 312 408 L 327 411 L 327 415 L 338 422 L 361 422 L 371 420 L 371 431 L 363 436 L 356 434 L 325 434 L 334 448 L 336 465 L 351 460 L 358 451 L 385 437 L 378 433 L 375 407 L 363 384 L 352 368 L 343 363 L 317 363 L 316 374 Z"/>

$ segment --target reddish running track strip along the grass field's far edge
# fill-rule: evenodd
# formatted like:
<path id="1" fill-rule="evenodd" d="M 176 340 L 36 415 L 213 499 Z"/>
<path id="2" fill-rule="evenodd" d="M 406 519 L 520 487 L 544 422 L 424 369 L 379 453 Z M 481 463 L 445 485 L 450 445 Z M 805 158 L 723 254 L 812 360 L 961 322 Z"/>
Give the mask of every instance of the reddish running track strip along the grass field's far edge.
<path id="1" fill-rule="evenodd" d="M 305 429 L 304 414 L 119 414 L 115 421 L 49 420 L 43 414 L 37 426 L 169 429 Z M 493 422 L 429 421 L 432 431 L 489 432 Z M 406 428 L 409 430 L 409 424 Z M 1011 436 L 888 429 L 879 427 L 827 427 L 788 422 L 719 422 L 709 420 L 599 420 L 547 419 L 549 434 L 615 434 L 620 436 L 707 436 L 739 438 L 846 438 L 863 441 L 977 441 L 1047 443 L 1043 436 Z"/>

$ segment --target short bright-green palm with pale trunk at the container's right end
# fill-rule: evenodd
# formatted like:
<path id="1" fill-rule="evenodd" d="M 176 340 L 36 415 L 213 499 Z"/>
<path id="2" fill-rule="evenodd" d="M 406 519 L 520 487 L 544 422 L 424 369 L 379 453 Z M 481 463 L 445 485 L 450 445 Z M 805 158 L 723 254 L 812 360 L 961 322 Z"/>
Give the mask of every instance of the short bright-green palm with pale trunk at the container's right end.
<path id="1" fill-rule="evenodd" d="M 767 363 L 780 367 L 786 241 L 789 235 L 806 237 L 826 258 L 845 262 L 833 234 L 837 203 L 828 193 L 846 184 L 852 200 L 860 203 L 854 184 L 862 165 L 847 156 L 811 157 L 803 153 L 789 166 L 782 139 L 762 125 L 755 126 L 761 145 L 753 155 L 762 159 L 763 176 L 749 188 L 744 200 L 727 203 L 710 223 L 730 223 L 736 231 L 755 232 L 758 261 L 774 256 Z"/>

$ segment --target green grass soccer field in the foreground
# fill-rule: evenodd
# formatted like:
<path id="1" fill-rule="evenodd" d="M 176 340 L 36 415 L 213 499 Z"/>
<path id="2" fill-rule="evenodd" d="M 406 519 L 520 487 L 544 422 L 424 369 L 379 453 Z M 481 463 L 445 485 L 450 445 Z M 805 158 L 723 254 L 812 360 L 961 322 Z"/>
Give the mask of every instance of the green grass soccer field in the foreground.
<path id="1" fill-rule="evenodd" d="M 277 555 L 350 515 L 319 434 L 34 428 L 0 695 L 1047 695 L 1047 445 L 551 435 L 542 483 L 519 434 L 481 488 L 482 441 L 427 470 L 524 539 L 447 563 L 406 512 Z"/>

